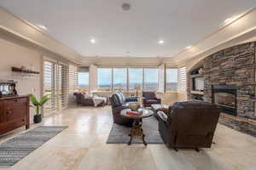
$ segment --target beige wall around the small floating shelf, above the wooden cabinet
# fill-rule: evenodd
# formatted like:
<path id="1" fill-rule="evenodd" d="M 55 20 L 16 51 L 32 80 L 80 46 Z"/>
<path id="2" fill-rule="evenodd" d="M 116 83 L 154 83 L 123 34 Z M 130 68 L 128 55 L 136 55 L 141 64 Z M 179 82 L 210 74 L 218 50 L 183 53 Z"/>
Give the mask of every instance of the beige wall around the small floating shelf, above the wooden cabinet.
<path id="1" fill-rule="evenodd" d="M 18 74 L 13 74 L 12 66 L 26 67 L 33 66 L 36 71 L 41 70 L 41 54 L 29 48 L 24 48 L 13 42 L 8 42 L 0 38 L 0 79 L 15 80 L 18 82 L 18 94 L 35 94 L 40 96 L 41 82 L 40 76 L 34 78 L 20 77 Z M 32 118 L 32 111 L 31 111 Z M 32 121 L 32 119 L 31 119 Z"/>

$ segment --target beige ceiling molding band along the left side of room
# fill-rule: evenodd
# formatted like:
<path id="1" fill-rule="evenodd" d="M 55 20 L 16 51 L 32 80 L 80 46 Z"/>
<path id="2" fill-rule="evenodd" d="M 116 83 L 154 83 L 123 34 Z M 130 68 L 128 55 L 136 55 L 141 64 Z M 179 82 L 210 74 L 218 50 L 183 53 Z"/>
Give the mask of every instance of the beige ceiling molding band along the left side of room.
<path id="1" fill-rule="evenodd" d="M 82 56 L 73 51 L 73 49 L 56 41 L 53 37 L 49 37 L 38 27 L 33 26 L 26 20 L 20 19 L 15 16 L 15 14 L 11 14 L 8 10 L 1 7 L 0 28 L 2 29 L 2 32 L 6 31 L 7 35 L 11 33 L 16 37 L 20 37 L 27 42 L 32 42 L 38 47 L 44 48 L 53 54 L 58 54 L 67 60 L 80 63 L 80 59 L 82 59 Z"/>

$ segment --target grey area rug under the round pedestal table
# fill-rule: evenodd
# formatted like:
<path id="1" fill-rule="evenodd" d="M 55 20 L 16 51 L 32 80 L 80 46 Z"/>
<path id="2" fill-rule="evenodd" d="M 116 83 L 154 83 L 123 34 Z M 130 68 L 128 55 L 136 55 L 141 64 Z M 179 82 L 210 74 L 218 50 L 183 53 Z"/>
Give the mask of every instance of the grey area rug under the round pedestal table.
<path id="1" fill-rule="evenodd" d="M 107 144 L 127 144 L 130 140 L 128 134 L 131 127 L 125 127 L 113 123 L 111 132 L 109 133 Z M 148 144 L 163 144 L 163 140 L 158 132 L 158 121 L 154 116 L 143 119 L 143 133 L 146 135 L 145 140 Z M 141 137 L 132 139 L 131 144 L 143 144 Z"/>

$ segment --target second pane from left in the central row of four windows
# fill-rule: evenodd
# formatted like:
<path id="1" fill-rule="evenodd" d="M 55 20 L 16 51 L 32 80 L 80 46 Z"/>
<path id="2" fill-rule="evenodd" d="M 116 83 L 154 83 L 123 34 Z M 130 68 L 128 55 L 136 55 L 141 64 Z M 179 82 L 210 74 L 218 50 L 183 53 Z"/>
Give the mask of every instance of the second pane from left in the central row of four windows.
<path id="1" fill-rule="evenodd" d="M 113 90 L 127 89 L 127 69 L 113 68 Z"/>

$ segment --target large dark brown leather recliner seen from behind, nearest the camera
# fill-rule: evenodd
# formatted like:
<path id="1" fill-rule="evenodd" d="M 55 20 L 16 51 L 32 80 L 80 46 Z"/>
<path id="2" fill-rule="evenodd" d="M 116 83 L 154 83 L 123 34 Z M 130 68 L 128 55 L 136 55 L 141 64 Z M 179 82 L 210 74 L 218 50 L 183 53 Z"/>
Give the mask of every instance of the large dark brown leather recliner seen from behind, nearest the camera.
<path id="1" fill-rule="evenodd" d="M 166 115 L 159 111 L 159 132 L 167 146 L 174 148 L 210 148 L 220 109 L 206 102 L 177 102 Z M 199 151 L 199 150 L 198 150 Z"/>

